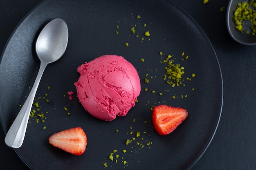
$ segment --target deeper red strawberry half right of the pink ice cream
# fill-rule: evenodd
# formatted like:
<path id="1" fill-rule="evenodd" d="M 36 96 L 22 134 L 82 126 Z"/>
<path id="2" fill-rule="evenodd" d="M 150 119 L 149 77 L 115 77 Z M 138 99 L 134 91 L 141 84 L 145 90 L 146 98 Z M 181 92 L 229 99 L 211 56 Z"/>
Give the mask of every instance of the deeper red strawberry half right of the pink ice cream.
<path id="1" fill-rule="evenodd" d="M 167 135 L 179 126 L 188 117 L 184 108 L 160 105 L 153 109 L 152 121 L 159 135 Z"/>

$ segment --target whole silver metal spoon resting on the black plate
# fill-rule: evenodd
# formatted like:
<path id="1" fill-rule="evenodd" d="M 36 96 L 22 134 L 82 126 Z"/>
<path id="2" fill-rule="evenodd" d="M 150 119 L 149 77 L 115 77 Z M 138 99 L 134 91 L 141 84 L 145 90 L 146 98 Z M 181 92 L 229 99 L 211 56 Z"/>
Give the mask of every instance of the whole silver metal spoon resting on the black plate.
<path id="1" fill-rule="evenodd" d="M 41 62 L 40 68 L 26 102 L 6 134 L 4 141 L 7 146 L 11 148 L 20 148 L 20 146 L 22 146 L 31 107 L 45 67 L 47 64 L 61 58 L 67 48 L 67 40 L 67 24 L 61 19 L 55 19 L 49 22 L 38 36 L 36 41 L 36 53 Z"/>

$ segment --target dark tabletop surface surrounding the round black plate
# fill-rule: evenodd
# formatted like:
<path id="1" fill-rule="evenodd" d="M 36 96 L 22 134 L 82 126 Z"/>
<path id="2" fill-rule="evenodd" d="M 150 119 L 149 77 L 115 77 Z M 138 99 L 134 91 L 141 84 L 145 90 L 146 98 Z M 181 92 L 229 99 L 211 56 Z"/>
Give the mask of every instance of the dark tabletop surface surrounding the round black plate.
<path id="1" fill-rule="evenodd" d="M 0 51 L 25 15 L 42 0 L 0 0 Z M 209 37 L 218 56 L 224 84 L 220 124 L 213 141 L 191 170 L 256 169 L 255 46 L 232 40 L 226 26 L 229 0 L 173 0 L 189 13 Z M 189 29 L 189 28 L 188 28 Z M 214 86 L 214 84 L 213 84 Z M 4 144 L 0 130 L 0 166 L 4 170 L 29 170 L 13 149 Z"/>

